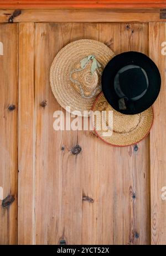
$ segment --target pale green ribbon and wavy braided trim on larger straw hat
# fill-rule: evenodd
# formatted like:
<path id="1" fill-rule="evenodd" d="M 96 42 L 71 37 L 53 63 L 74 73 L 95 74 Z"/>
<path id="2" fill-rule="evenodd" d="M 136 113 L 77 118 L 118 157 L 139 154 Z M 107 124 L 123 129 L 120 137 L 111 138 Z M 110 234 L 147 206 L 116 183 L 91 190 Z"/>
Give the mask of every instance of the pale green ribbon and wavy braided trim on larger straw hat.
<path id="1" fill-rule="evenodd" d="M 91 93 L 90 96 L 85 96 L 84 94 L 84 90 L 82 89 L 82 86 L 80 84 L 79 81 L 77 80 L 74 80 L 71 76 L 72 76 L 72 73 L 75 73 L 75 72 L 80 72 L 82 70 L 84 70 L 84 68 L 89 64 L 89 62 L 92 61 L 92 65 L 91 65 L 91 73 L 92 75 L 94 74 L 95 71 L 97 71 L 99 73 L 99 75 L 101 76 L 101 71 L 98 69 L 101 67 L 100 63 L 96 60 L 95 56 L 94 55 L 89 55 L 85 58 L 83 58 L 80 63 L 81 63 L 81 68 L 77 68 L 76 70 L 71 70 L 70 72 L 70 81 L 71 82 L 74 82 L 76 85 L 78 85 L 80 87 L 80 94 L 81 94 L 81 97 L 82 98 L 85 98 L 85 99 L 91 99 L 92 97 L 94 97 L 96 91 L 98 89 L 101 88 L 101 85 L 97 86 L 95 88 L 95 90 Z"/>

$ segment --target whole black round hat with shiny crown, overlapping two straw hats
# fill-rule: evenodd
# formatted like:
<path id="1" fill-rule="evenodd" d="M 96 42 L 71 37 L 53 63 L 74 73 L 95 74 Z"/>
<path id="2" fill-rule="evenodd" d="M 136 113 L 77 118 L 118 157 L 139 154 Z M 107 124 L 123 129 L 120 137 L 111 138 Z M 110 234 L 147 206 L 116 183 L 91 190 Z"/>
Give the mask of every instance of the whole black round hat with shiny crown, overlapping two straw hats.
<path id="1" fill-rule="evenodd" d="M 160 91 L 158 67 L 141 52 L 123 52 L 102 73 L 102 91 L 113 109 L 133 115 L 152 106 Z"/>

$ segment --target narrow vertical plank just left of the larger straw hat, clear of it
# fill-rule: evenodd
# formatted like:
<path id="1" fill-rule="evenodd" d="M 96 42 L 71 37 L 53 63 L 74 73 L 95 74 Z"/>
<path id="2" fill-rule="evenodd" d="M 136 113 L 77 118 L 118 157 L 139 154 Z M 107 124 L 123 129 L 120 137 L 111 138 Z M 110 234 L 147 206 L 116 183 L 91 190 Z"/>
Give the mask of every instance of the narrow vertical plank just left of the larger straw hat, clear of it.
<path id="1" fill-rule="evenodd" d="M 48 149 L 49 149 L 49 133 L 48 133 L 48 91 L 45 90 L 45 86 L 49 86 L 49 82 L 45 79 L 45 74 L 49 69 L 49 55 L 45 51 L 49 49 L 49 38 L 45 38 L 49 35 L 49 25 L 43 24 L 43 29 L 40 29 L 39 24 L 36 24 L 36 36 L 35 36 L 35 90 L 36 90 L 36 109 L 37 109 L 37 174 L 36 174 L 36 205 L 35 214 L 36 220 L 36 233 L 35 239 L 37 244 L 48 243 L 48 199 L 49 199 L 49 169 L 48 169 Z M 48 77 L 49 81 L 49 77 Z M 44 88 L 43 88 L 44 87 Z M 45 107 L 41 107 L 41 102 L 45 102 Z M 51 196 L 52 198 L 52 196 Z M 41 200 L 42 199 L 42 200 Z"/>

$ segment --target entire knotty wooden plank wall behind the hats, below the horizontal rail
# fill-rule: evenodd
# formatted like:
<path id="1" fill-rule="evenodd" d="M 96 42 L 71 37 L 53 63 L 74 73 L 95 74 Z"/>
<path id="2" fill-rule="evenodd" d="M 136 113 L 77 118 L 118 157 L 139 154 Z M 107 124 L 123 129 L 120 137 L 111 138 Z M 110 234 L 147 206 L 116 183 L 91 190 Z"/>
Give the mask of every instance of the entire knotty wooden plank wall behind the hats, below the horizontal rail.
<path id="1" fill-rule="evenodd" d="M 160 22 L 0 24 L 1 244 L 166 243 L 165 32 Z M 116 54 L 141 51 L 158 65 L 154 125 L 137 147 L 109 146 L 92 131 L 54 131 L 53 113 L 61 107 L 50 65 L 80 38 L 106 43 Z M 78 155 L 71 153 L 75 145 Z"/>

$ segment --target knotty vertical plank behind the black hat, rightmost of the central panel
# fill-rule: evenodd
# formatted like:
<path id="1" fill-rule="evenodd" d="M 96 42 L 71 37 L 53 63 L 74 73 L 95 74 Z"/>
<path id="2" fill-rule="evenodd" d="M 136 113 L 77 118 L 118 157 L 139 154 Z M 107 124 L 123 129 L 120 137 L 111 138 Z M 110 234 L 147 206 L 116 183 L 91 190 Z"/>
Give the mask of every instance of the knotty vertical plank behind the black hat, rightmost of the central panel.
<path id="1" fill-rule="evenodd" d="M 148 24 L 121 24 L 121 51 L 138 51 L 149 54 Z M 125 43 L 125 38 L 127 43 Z M 138 144 L 138 151 L 129 151 L 129 243 L 149 244 L 150 191 L 149 191 L 149 136 Z M 125 158 L 125 156 L 123 156 Z M 136 196 L 136 198 L 132 198 Z"/>

